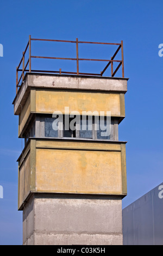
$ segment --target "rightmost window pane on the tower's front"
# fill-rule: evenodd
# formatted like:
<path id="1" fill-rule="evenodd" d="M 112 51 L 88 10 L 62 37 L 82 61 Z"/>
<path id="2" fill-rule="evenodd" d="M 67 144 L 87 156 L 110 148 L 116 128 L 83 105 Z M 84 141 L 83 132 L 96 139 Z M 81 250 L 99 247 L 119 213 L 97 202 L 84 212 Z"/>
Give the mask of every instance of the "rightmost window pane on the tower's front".
<path id="1" fill-rule="evenodd" d="M 106 136 L 102 136 L 103 133 L 106 133 Z M 110 139 L 110 122 L 108 122 L 106 127 L 106 119 L 105 120 L 99 119 L 99 130 L 97 130 L 97 139 Z"/>

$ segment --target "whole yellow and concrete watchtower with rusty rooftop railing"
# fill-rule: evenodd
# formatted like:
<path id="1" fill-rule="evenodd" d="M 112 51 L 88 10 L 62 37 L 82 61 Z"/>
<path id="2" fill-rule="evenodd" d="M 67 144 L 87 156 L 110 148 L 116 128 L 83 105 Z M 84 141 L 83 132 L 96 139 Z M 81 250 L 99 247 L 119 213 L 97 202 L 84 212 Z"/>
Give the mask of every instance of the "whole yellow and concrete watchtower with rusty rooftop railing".
<path id="1" fill-rule="evenodd" d="M 66 72 L 33 70 L 32 58 L 68 59 L 32 56 L 33 40 L 39 39 L 29 36 L 16 68 L 13 102 L 19 117 L 18 137 L 24 138 L 17 160 L 23 244 L 122 245 L 126 142 L 118 141 L 118 124 L 125 117 L 128 81 L 124 78 L 123 42 L 62 41 L 76 44 L 77 49 L 77 57 L 72 59 L 77 62 L 77 72 Z M 100 74 L 80 73 L 80 60 L 99 61 L 80 59 L 80 43 L 118 48 L 110 59 L 101 60 L 107 65 Z M 118 51 L 122 58 L 115 60 Z M 115 71 L 113 64 L 118 64 Z M 111 76 L 103 77 L 109 65 Z M 120 66 L 122 77 L 114 77 Z M 103 133 L 107 129 L 109 133 Z"/>

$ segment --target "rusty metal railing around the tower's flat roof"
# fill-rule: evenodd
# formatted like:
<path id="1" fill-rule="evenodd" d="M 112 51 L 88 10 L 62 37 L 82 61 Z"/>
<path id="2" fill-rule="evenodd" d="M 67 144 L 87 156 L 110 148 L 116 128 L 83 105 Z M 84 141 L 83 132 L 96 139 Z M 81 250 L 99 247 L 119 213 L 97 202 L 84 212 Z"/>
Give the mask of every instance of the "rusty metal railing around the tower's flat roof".
<path id="1" fill-rule="evenodd" d="M 58 58 L 58 57 L 33 56 L 31 54 L 31 42 L 32 41 L 52 41 L 52 42 L 71 42 L 71 43 L 74 43 L 74 44 L 76 44 L 76 58 Z M 117 48 L 116 52 L 114 53 L 114 55 L 110 59 L 82 59 L 82 58 L 79 58 L 78 44 L 117 45 L 118 48 Z M 26 54 L 28 48 L 29 48 L 29 58 L 28 58 L 27 63 L 25 65 L 25 61 L 24 61 L 25 58 L 24 57 L 25 57 L 25 54 Z M 122 59 L 121 60 L 115 60 L 115 57 L 116 57 L 117 53 L 120 51 L 120 49 L 121 49 Z M 76 62 L 77 62 L 77 71 L 76 72 L 68 72 L 68 71 L 62 71 L 61 69 L 59 69 L 58 71 L 32 70 L 32 68 L 31 68 L 32 58 L 76 60 Z M 100 72 L 100 74 L 82 73 L 82 72 L 79 72 L 79 61 L 80 60 L 90 60 L 90 61 L 96 61 L 96 62 L 99 62 L 99 61 L 100 62 L 108 62 L 108 64 L 105 66 L 103 71 Z M 113 70 L 113 64 L 114 63 L 119 63 L 117 68 L 115 69 L 115 71 Z M 22 69 L 20 69 L 21 64 L 22 64 Z M 28 64 L 29 64 L 29 69 L 27 69 Z M 18 88 L 21 87 L 21 85 L 20 85 L 21 81 L 23 82 L 24 72 L 42 72 L 42 73 L 45 72 L 45 73 L 72 74 L 72 75 L 103 76 L 104 72 L 106 71 L 106 69 L 108 69 L 110 64 L 111 64 L 111 77 L 115 76 L 116 72 L 118 71 L 118 69 L 120 68 L 121 65 L 122 65 L 122 77 L 124 77 L 123 41 L 121 41 L 121 44 L 114 44 L 114 43 L 110 43 L 110 42 L 78 41 L 78 38 L 76 39 L 76 41 L 50 40 L 50 39 L 35 39 L 35 38 L 31 38 L 31 36 L 29 35 L 29 41 L 28 41 L 28 44 L 26 46 L 25 51 L 23 52 L 23 56 L 21 58 L 20 64 L 16 67 L 16 94 L 17 94 Z M 18 79 L 18 72 L 21 72 L 21 75 L 20 75 L 19 79 Z"/>

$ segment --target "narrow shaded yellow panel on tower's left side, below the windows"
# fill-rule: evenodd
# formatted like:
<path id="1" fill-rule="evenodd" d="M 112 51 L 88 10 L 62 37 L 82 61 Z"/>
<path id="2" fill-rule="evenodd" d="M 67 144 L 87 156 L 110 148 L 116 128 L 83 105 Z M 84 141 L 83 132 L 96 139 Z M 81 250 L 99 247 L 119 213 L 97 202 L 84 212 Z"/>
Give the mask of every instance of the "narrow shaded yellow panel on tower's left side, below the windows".
<path id="1" fill-rule="evenodd" d="M 30 153 L 26 156 L 19 169 L 19 206 L 30 191 Z"/>

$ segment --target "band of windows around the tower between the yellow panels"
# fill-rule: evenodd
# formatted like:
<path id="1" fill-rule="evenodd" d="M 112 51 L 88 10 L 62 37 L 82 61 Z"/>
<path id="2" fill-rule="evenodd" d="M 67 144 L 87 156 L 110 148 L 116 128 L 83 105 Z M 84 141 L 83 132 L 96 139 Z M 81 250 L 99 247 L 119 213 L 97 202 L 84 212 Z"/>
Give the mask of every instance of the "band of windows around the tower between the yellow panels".
<path id="1" fill-rule="evenodd" d="M 66 119 L 67 118 L 67 119 Z M 29 137 L 48 138 L 88 138 L 114 140 L 118 129 L 117 119 L 101 116 L 64 115 L 52 118 L 52 115 L 36 115 L 25 135 L 25 144 Z M 56 130 L 58 128 L 58 130 Z M 59 130 L 60 128 L 60 130 Z M 117 135 L 116 135 L 117 136 Z M 118 140 L 118 137 L 116 137 Z"/>

